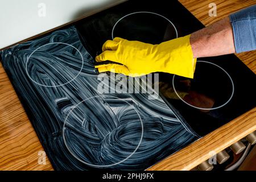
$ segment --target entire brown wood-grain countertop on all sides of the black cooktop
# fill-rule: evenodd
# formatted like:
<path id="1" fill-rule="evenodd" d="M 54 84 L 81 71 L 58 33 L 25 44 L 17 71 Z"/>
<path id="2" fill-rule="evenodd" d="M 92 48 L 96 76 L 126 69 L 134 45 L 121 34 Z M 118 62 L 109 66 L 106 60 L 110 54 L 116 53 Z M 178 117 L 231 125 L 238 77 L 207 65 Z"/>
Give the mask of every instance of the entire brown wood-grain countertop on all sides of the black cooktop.
<path id="1" fill-rule="evenodd" d="M 205 0 L 180 0 L 205 26 L 216 22 L 234 11 L 254 5 L 254 0 L 216 0 L 217 16 L 208 15 L 209 3 Z M 256 73 L 256 51 L 237 54 Z M 189 170 L 209 158 L 209 152 L 219 152 L 256 130 L 256 108 L 234 119 L 227 125 L 197 140 L 183 150 L 148 170 Z M 0 170 L 53 170 L 39 164 L 43 151 L 36 133 L 20 104 L 9 78 L 0 63 Z"/>

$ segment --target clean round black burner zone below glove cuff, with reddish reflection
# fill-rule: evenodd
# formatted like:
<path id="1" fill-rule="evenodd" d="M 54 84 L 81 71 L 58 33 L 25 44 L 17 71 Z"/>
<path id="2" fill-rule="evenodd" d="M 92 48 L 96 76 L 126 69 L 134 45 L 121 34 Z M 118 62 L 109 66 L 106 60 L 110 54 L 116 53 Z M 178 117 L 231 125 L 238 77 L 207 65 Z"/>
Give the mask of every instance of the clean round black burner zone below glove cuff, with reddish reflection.
<path id="1" fill-rule="evenodd" d="M 234 93 L 233 80 L 229 74 L 207 61 L 197 61 L 193 79 L 175 76 L 172 86 L 185 104 L 203 112 L 225 106 Z M 184 95 L 184 92 L 187 94 Z"/>

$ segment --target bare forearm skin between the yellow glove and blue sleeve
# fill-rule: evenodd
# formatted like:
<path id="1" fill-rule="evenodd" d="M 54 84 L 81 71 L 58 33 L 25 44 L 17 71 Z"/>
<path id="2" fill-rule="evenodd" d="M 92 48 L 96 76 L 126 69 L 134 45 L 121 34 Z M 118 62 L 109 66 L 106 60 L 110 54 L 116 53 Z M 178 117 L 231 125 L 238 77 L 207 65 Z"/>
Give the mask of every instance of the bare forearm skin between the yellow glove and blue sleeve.
<path id="1" fill-rule="evenodd" d="M 193 57 L 210 57 L 234 53 L 234 38 L 229 18 L 224 18 L 199 31 L 190 38 Z"/>

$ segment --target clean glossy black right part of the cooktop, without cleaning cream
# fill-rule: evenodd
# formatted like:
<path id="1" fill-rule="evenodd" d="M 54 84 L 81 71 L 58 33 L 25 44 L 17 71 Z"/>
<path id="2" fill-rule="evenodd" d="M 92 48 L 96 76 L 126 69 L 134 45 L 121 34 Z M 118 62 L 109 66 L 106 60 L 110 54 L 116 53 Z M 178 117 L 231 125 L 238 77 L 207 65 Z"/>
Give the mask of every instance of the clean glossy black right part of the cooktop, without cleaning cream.
<path id="1" fill-rule="evenodd" d="M 76 28 L 95 57 L 116 36 L 159 44 L 204 26 L 176 1 L 128 1 L 77 22 Z M 198 59 L 193 79 L 159 74 L 166 102 L 201 136 L 255 107 L 255 74 L 235 55 Z"/>

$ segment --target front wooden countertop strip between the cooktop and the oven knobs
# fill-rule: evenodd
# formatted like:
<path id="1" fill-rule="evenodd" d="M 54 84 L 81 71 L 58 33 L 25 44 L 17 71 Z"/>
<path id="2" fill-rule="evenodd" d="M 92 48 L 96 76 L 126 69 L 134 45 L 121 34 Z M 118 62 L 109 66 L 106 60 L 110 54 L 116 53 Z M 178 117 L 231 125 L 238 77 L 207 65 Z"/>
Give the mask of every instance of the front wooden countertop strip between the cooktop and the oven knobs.
<path id="1" fill-rule="evenodd" d="M 256 108 L 162 160 L 148 171 L 190 170 L 256 130 Z"/>

